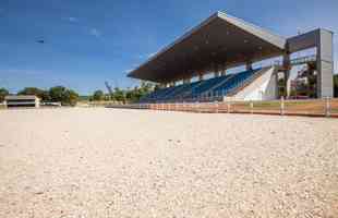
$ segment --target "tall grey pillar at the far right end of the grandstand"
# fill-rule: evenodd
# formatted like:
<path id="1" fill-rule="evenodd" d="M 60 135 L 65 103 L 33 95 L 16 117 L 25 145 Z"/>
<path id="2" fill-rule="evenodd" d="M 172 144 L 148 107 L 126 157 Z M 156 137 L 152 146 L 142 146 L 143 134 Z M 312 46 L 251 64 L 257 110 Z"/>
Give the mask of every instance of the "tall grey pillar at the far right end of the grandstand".
<path id="1" fill-rule="evenodd" d="M 334 34 L 326 29 L 318 29 L 316 34 L 317 45 L 317 97 L 334 96 L 334 52 L 333 36 Z"/>

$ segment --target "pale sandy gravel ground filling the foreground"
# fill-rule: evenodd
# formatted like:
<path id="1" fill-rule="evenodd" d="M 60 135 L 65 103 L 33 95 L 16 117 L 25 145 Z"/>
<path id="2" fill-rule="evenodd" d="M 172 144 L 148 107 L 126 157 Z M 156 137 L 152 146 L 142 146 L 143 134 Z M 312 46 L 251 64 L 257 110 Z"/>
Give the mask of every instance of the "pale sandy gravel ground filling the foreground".
<path id="1" fill-rule="evenodd" d="M 338 217 L 338 119 L 1 110 L 0 217 Z"/>

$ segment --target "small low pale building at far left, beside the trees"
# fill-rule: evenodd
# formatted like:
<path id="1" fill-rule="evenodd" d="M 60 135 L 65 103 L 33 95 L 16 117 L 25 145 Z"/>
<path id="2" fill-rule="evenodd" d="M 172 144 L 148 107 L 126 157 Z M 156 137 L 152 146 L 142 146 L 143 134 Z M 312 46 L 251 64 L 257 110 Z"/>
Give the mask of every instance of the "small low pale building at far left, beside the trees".
<path id="1" fill-rule="evenodd" d="M 33 107 L 39 108 L 40 107 L 40 99 L 34 95 L 28 96 L 5 96 L 4 97 L 4 105 L 8 108 L 16 108 L 16 107 Z"/>

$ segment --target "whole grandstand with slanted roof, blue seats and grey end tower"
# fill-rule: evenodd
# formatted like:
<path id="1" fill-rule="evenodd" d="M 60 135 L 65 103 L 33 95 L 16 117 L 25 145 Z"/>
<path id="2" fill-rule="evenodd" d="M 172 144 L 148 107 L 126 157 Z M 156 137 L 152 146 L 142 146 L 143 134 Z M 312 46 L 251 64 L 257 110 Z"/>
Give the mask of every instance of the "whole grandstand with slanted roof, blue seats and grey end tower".
<path id="1" fill-rule="evenodd" d="M 311 48 L 314 56 L 291 58 L 292 53 Z M 280 57 L 281 62 L 253 69 L 253 63 L 275 57 Z M 318 28 L 285 38 L 217 12 L 128 76 L 161 84 L 160 89 L 142 99 L 144 102 L 269 100 L 289 96 L 292 65 L 307 64 L 309 71 L 316 75 L 316 97 L 323 98 L 333 96 L 333 59 L 330 31 Z M 245 71 L 228 74 L 228 69 L 241 65 Z M 210 73 L 214 77 L 204 80 Z M 179 81 L 182 84 L 178 85 Z"/>

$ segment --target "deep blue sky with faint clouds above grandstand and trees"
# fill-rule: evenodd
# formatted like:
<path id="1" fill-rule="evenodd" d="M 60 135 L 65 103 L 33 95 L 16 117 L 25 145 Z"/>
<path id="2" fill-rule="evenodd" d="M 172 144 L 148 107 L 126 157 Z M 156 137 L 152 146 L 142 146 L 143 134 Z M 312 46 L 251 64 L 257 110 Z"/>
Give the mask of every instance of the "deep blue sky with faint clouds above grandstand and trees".
<path id="1" fill-rule="evenodd" d="M 281 36 L 338 34 L 337 0 L 0 0 L 0 87 L 130 87 L 126 73 L 216 11 Z M 45 39 L 45 44 L 36 40 Z M 335 35 L 335 65 L 338 64 Z"/>

